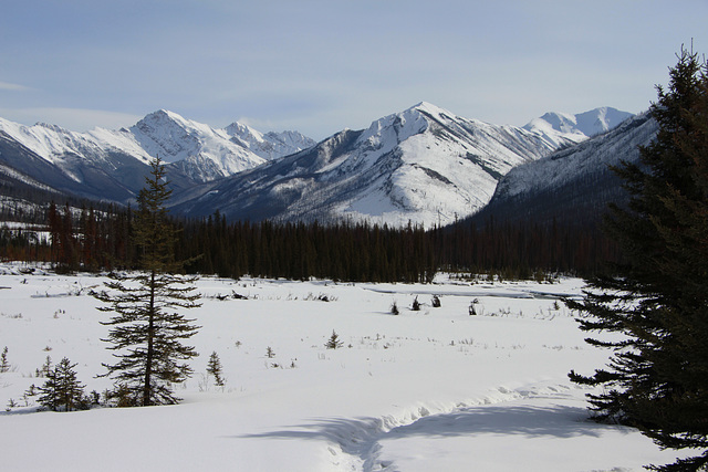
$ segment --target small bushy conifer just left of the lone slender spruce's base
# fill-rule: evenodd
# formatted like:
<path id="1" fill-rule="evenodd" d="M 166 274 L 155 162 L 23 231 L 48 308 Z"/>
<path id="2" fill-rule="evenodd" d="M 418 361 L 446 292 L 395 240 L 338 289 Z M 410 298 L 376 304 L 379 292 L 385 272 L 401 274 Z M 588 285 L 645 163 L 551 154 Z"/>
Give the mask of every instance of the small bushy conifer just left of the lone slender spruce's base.
<path id="1" fill-rule="evenodd" d="M 76 380 L 76 364 L 64 357 L 49 371 L 46 381 L 40 387 L 39 403 L 52 411 L 85 410 L 84 386 Z"/>

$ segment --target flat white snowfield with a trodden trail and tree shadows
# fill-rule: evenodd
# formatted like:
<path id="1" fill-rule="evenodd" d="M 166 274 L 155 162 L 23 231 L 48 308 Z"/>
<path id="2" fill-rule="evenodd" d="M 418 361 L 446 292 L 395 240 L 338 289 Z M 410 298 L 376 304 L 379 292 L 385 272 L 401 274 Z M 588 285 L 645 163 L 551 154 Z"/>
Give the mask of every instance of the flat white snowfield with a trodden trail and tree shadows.
<path id="1" fill-rule="evenodd" d="M 110 314 L 87 295 L 104 279 L 0 273 L 0 348 L 12 365 L 0 401 L 21 403 L 0 412 L 3 470 L 639 471 L 675 457 L 635 430 L 586 420 L 587 390 L 566 373 L 589 373 L 606 353 L 554 306 L 580 292 L 579 280 L 202 279 L 204 305 L 189 313 L 202 326 L 191 339 L 201 356 L 178 388 L 181 405 L 56 413 L 22 399 L 42 384 L 33 373 L 48 355 L 77 363 L 87 390 L 110 386 L 94 378 L 111 358 L 98 323 Z M 233 292 L 249 300 L 217 297 Z M 408 310 L 416 295 L 420 312 Z M 342 349 L 324 347 L 333 329 Z M 225 388 L 205 378 L 211 352 Z"/>

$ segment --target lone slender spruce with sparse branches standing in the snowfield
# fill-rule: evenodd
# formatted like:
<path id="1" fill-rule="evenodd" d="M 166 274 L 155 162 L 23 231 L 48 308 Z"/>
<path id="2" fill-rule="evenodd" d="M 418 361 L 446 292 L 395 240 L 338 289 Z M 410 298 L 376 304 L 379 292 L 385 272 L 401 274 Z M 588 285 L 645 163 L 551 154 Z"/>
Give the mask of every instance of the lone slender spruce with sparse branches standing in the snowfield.
<path id="1" fill-rule="evenodd" d="M 174 310 L 199 306 L 192 294 L 196 277 L 178 275 L 184 261 L 176 261 L 177 229 L 170 224 L 165 208 L 171 190 L 167 188 L 165 168 L 159 159 L 152 162 L 150 176 L 138 197 L 138 212 L 133 223 L 134 243 L 139 251 L 140 271 L 112 275 L 107 290 L 94 293 L 107 304 L 98 310 L 116 316 L 102 323 L 111 326 L 110 349 L 116 350 L 116 364 L 104 366 L 105 376 L 115 379 L 122 403 L 149 406 L 175 403 L 179 398 L 173 384 L 186 380 L 192 369 L 184 363 L 197 356 L 194 347 L 183 344 L 199 329 Z"/>

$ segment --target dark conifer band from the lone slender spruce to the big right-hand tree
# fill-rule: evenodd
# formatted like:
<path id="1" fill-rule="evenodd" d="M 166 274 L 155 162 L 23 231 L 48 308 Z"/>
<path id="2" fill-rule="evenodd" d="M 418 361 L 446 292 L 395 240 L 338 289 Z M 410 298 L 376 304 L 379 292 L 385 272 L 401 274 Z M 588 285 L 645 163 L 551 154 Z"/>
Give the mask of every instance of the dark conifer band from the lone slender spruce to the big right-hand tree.
<path id="1" fill-rule="evenodd" d="M 231 277 L 429 282 L 445 270 L 524 279 L 538 272 L 594 273 L 618 256 L 616 244 L 593 225 L 228 223 L 217 212 L 184 228 L 183 256 L 202 254 L 188 269 Z"/>

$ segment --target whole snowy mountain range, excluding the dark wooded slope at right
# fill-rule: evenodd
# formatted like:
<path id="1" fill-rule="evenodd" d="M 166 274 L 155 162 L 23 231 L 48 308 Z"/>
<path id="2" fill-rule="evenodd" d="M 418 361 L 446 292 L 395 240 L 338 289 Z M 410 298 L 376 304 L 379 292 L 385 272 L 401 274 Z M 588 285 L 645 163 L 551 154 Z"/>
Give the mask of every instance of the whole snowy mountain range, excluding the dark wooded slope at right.
<path id="1" fill-rule="evenodd" d="M 159 156 L 173 210 L 186 216 L 445 224 L 485 207 L 511 169 L 594 140 L 631 116 L 605 107 L 514 127 L 420 103 L 320 143 L 239 123 L 212 128 L 168 111 L 88 133 L 0 118 L 0 182 L 127 203 Z"/>

